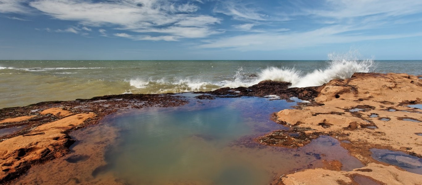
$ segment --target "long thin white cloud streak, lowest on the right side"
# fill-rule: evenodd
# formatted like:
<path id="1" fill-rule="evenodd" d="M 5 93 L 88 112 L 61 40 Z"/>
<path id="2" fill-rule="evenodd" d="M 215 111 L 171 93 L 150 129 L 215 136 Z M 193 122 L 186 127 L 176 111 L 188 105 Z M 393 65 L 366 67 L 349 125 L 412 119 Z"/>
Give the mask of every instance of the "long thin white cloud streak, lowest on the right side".
<path id="1" fill-rule="evenodd" d="M 321 46 L 333 43 L 353 43 L 365 40 L 384 40 L 422 36 L 422 32 L 390 35 L 341 35 L 339 33 L 353 30 L 341 26 L 325 27 L 309 32 L 291 32 L 281 34 L 258 33 L 221 38 L 211 43 L 200 45 L 200 48 L 232 48 L 239 51 L 275 51 L 310 46 Z"/>

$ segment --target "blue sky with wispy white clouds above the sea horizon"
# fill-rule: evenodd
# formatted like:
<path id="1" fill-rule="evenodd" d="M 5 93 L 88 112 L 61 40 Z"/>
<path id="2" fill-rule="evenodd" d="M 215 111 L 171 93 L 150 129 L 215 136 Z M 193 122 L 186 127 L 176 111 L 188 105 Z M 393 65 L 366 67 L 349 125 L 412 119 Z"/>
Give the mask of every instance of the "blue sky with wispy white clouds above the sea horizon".
<path id="1" fill-rule="evenodd" d="M 0 0 L 0 59 L 422 59 L 422 0 Z"/>

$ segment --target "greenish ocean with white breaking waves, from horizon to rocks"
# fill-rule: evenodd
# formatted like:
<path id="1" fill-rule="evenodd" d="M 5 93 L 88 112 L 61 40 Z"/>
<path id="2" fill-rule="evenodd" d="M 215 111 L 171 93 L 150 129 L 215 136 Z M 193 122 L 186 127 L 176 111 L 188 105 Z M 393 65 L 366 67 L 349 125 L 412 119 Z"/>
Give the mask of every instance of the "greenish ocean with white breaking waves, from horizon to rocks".
<path id="1" fill-rule="evenodd" d="M 319 86 L 354 72 L 421 75 L 422 61 L 61 61 L 0 60 L 0 108 L 108 94 L 211 91 L 261 80 Z M 255 76 L 256 75 L 256 76 Z"/>

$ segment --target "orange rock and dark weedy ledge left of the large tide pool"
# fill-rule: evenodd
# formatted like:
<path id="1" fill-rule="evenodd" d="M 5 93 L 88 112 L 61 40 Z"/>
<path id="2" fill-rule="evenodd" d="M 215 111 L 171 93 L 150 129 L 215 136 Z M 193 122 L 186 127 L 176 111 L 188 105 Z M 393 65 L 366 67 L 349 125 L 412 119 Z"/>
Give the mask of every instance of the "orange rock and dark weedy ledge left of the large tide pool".
<path id="1" fill-rule="evenodd" d="M 0 109 L 0 131 L 19 129 L 0 136 L 0 184 L 119 184 L 114 176 L 102 173 L 104 150 L 116 138 L 115 132 L 92 127 L 91 131 L 99 131 L 104 137 L 90 138 L 91 142 L 77 146 L 73 143 L 80 136 L 73 132 L 97 125 L 117 111 L 185 103 L 173 94 L 121 94 Z M 75 153 L 72 145 L 84 150 Z M 56 173 L 51 175 L 51 171 Z"/>

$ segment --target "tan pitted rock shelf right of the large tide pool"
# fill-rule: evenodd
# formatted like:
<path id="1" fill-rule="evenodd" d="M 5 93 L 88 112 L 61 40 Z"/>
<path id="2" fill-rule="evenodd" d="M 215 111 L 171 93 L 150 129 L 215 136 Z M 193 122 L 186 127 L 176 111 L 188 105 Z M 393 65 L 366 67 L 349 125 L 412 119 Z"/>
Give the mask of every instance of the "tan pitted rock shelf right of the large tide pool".
<path id="1" fill-rule="evenodd" d="M 420 104 L 421 98 L 422 80 L 417 76 L 355 73 L 352 78 L 331 80 L 323 85 L 312 103 L 276 113 L 273 119 L 292 129 L 275 131 L 257 138 L 257 141 L 266 145 L 298 147 L 319 135 L 330 135 L 347 140 L 341 145 L 367 164 L 365 168 L 372 170 L 335 172 L 309 169 L 283 177 L 286 185 L 359 184 L 357 181 L 369 177 L 373 178 L 371 183 L 376 184 L 421 184 L 421 175 L 376 161 L 370 151 L 371 148 L 380 148 L 422 156 L 422 136 L 418 135 L 422 132 L 422 110 L 407 107 Z M 288 132 L 300 134 L 291 137 Z M 405 161 L 406 158 L 396 160 Z M 365 177 L 354 177 L 354 174 Z"/>

